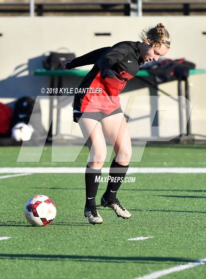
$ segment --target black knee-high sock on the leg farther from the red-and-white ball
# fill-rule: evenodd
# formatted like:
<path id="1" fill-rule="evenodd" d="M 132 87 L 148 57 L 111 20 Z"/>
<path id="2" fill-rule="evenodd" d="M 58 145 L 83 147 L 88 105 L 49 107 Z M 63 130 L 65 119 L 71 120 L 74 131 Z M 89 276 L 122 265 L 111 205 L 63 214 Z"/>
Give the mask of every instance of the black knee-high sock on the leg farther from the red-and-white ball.
<path id="1" fill-rule="evenodd" d="M 108 201 L 114 201 L 116 199 L 117 191 L 122 184 L 123 179 L 126 176 L 129 165 L 123 166 L 115 162 L 113 159 L 110 170 L 109 170 L 109 180 L 107 184 L 107 188 L 103 196 Z"/>

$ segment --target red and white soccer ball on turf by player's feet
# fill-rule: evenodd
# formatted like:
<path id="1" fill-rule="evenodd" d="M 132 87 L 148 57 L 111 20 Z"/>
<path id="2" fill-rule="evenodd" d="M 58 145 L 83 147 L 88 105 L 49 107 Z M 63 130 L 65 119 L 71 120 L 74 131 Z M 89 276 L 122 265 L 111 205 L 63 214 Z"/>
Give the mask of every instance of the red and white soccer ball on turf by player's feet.
<path id="1" fill-rule="evenodd" d="M 25 205 L 25 217 L 33 226 L 47 226 L 52 223 L 55 216 L 55 203 L 47 196 L 34 196 Z"/>

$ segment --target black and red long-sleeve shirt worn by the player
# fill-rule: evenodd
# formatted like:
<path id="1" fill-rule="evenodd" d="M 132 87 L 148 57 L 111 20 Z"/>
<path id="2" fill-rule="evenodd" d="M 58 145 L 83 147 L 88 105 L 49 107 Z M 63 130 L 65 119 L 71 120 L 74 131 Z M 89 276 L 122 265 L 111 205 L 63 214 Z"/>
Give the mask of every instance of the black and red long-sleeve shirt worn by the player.
<path id="1" fill-rule="evenodd" d="M 129 79 L 133 78 L 144 60 L 140 56 L 140 42 L 124 41 L 113 47 L 105 47 L 75 58 L 67 69 L 94 64 L 84 77 L 79 90 L 83 88 L 101 88 L 101 94 L 75 94 L 74 109 L 78 111 L 103 111 L 109 114 L 121 107 L 119 93 L 125 88 Z M 115 72 L 114 78 L 102 78 L 103 69 Z"/>

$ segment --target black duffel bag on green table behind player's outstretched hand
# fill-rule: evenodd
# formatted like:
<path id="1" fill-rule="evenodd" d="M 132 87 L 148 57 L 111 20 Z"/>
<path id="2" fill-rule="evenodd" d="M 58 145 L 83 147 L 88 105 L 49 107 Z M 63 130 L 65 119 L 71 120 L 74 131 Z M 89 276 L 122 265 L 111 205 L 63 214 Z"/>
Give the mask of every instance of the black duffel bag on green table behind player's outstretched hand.
<path id="1" fill-rule="evenodd" d="M 65 49 L 69 51 L 66 48 L 60 48 Z M 76 56 L 75 53 L 69 53 L 69 52 L 58 52 L 60 49 L 57 50 L 57 52 L 50 52 L 50 55 L 47 56 L 46 59 L 43 60 L 44 68 L 47 70 L 60 70 L 62 69 L 61 62 L 66 62 L 67 60 L 73 60 Z"/>

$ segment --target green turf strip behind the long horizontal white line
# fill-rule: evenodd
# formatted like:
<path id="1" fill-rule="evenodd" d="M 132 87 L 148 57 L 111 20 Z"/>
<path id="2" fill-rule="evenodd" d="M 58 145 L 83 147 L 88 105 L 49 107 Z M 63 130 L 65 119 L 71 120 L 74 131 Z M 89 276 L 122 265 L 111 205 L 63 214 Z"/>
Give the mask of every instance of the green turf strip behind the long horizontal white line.
<path id="1" fill-rule="evenodd" d="M 40 152 L 41 158 L 37 162 L 19 162 L 18 156 L 20 147 L 0 147 L 1 167 L 86 167 L 86 161 L 89 155 L 86 146 L 62 146 L 54 147 L 57 149 L 57 154 L 60 153 L 62 161 L 56 162 L 52 160 L 52 147 L 43 148 Z M 25 152 L 27 158 L 30 154 L 40 150 L 40 147 L 26 147 Z M 79 154 L 77 153 L 79 152 Z M 140 147 L 133 146 L 132 153 L 134 159 L 135 154 L 140 152 Z M 77 159 L 67 162 L 67 154 L 77 153 Z M 114 152 L 110 146 L 107 147 L 107 157 L 104 167 L 109 167 Z M 131 167 L 206 167 L 206 145 L 160 145 L 146 146 L 141 162 L 132 160 L 129 164 Z M 65 162 L 63 161 L 65 160 Z"/>

